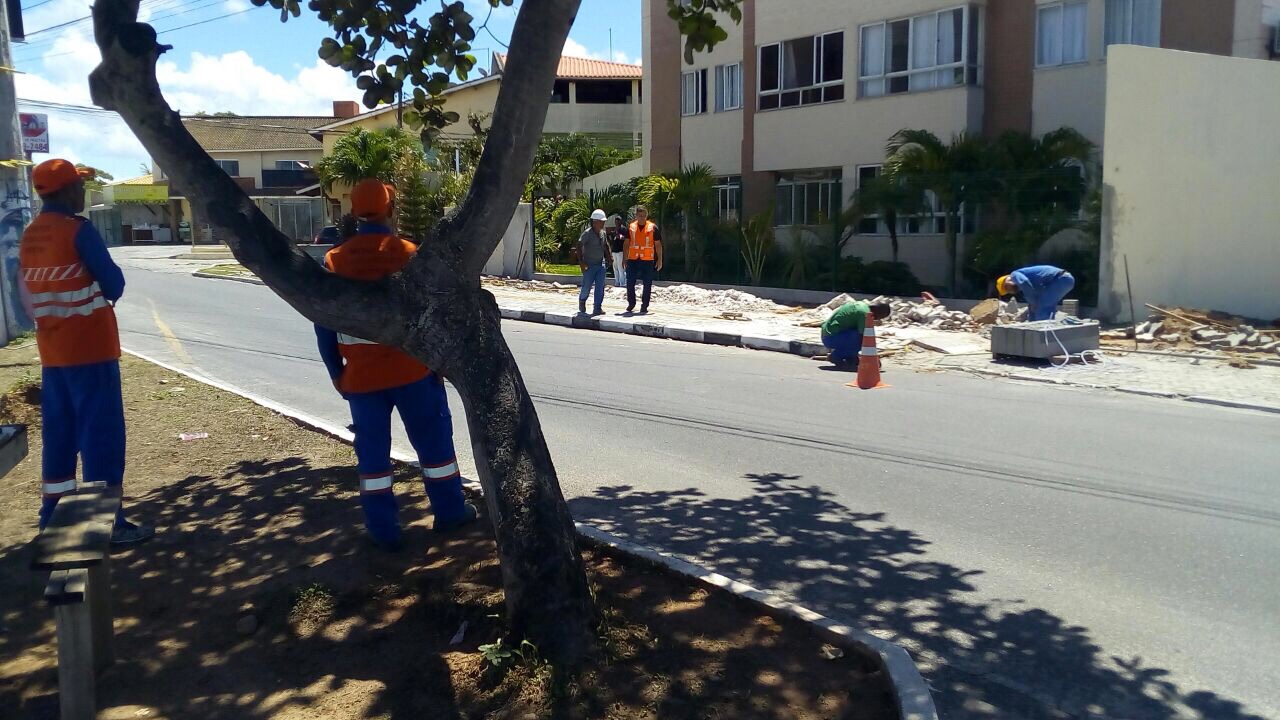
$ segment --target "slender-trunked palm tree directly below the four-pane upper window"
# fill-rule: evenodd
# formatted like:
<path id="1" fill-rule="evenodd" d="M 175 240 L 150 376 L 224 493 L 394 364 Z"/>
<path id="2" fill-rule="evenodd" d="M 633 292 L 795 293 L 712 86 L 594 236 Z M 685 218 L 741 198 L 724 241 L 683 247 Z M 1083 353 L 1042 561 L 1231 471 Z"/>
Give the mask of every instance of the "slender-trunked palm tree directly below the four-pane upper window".
<path id="1" fill-rule="evenodd" d="M 956 135 L 950 143 L 924 129 L 900 129 L 886 146 L 884 174 L 928 190 L 945 217 L 947 236 L 947 292 L 956 291 L 956 234 L 965 202 L 991 192 L 991 151 L 980 137 Z"/>

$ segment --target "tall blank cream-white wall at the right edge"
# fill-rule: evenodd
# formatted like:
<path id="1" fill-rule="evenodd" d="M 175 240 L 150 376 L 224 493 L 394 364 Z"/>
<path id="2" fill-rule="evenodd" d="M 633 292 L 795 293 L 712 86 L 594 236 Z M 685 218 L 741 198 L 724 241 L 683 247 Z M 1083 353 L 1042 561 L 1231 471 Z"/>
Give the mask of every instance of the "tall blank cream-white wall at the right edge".
<path id="1" fill-rule="evenodd" d="M 1152 302 L 1280 318 L 1277 127 L 1280 63 L 1111 49 L 1106 316 L 1128 316 L 1128 255 L 1139 309 Z"/>

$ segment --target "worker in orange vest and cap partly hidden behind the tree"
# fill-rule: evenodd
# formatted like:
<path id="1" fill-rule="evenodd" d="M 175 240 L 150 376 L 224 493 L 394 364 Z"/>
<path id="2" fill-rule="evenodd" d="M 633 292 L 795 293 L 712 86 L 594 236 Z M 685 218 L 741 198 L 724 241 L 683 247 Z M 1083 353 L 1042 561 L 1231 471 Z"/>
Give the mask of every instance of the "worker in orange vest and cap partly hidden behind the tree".
<path id="1" fill-rule="evenodd" d="M 390 229 L 396 191 L 378 179 L 352 188 L 356 234 L 325 255 L 325 266 L 339 275 L 376 281 L 413 256 L 417 247 Z M 453 419 L 444 380 L 403 351 L 316 325 L 320 357 L 334 387 L 351 405 L 360 470 L 360 505 L 365 528 L 376 544 L 401 547 L 399 506 L 392 491 L 392 410 L 399 410 L 410 443 L 422 465 L 434 529 L 447 532 L 476 519 L 476 507 L 462 495 L 462 475 L 453 450 Z"/>

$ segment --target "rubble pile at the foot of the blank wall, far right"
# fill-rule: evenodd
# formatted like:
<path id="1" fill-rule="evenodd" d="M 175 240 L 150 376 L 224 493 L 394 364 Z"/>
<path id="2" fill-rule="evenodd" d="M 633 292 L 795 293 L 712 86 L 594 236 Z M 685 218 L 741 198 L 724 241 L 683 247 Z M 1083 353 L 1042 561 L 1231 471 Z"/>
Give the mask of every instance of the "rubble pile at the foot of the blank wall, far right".
<path id="1" fill-rule="evenodd" d="M 1213 350 L 1280 355 L 1280 329 L 1258 329 L 1240 318 L 1203 310 L 1160 310 L 1137 328 L 1107 331 L 1103 340 L 1137 338 L 1156 350 Z"/>

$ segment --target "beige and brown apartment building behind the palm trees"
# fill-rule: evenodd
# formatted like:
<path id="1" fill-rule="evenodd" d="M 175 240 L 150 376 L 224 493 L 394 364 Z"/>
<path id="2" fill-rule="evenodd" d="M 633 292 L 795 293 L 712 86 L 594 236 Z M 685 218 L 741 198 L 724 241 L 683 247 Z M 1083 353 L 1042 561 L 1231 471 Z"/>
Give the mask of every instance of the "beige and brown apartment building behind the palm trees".
<path id="1" fill-rule="evenodd" d="M 1275 56 L 1280 0 L 745 0 L 728 40 L 685 63 L 666 0 L 645 0 L 645 172 L 707 163 L 724 218 L 773 208 L 780 237 L 831 217 L 887 140 L 1064 126 L 1105 145 L 1112 44 Z M 941 218 L 900 225 L 901 259 L 945 284 Z M 883 223 L 849 252 L 888 259 Z"/>

